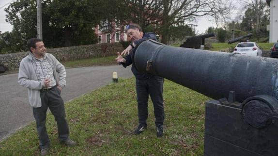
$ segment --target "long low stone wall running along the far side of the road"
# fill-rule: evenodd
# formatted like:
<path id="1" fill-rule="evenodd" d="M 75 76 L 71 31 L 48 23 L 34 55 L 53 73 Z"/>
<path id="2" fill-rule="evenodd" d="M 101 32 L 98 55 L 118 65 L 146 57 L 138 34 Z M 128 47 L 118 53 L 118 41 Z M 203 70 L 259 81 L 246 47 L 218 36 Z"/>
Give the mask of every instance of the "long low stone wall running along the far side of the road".
<path id="1" fill-rule="evenodd" d="M 101 43 L 92 45 L 71 46 L 63 48 L 46 48 L 47 53 L 53 54 L 59 61 L 77 60 L 83 58 L 115 56 L 124 50 L 121 43 Z M 0 55 L 0 65 L 8 70 L 16 70 L 22 58 L 29 52 L 19 52 Z"/>

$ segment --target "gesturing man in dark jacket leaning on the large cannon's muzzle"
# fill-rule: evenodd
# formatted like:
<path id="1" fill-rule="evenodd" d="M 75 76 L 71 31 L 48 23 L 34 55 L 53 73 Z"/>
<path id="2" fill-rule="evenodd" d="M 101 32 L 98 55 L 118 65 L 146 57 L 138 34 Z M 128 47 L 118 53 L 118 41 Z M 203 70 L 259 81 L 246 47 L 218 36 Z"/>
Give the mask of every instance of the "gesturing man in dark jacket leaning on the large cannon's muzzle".
<path id="1" fill-rule="evenodd" d="M 130 37 L 132 43 L 124 49 L 122 54 L 118 53 L 116 58 L 117 62 L 121 63 L 124 68 L 132 64 L 131 51 L 139 43 L 152 39 L 156 41 L 156 37 L 153 32 L 142 32 L 142 29 L 138 24 L 129 24 L 125 33 Z M 122 55 L 126 55 L 123 57 Z M 132 65 L 131 71 L 136 78 L 136 92 L 138 102 L 138 117 L 139 126 L 134 130 L 135 134 L 140 134 L 147 128 L 148 118 L 148 99 L 149 95 L 154 105 L 155 126 L 157 128 L 157 137 L 163 136 L 163 122 L 164 122 L 164 106 L 163 106 L 163 78 L 149 73 L 139 73 L 135 66 Z"/>

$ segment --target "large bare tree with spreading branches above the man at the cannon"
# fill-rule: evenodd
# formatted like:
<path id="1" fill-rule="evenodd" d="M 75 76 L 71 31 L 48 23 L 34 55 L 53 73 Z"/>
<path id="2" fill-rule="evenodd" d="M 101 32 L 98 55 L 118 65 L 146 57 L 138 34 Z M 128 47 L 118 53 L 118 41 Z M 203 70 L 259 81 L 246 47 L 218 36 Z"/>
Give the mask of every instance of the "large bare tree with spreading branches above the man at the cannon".
<path id="1" fill-rule="evenodd" d="M 162 43 L 169 39 L 170 26 L 184 25 L 196 17 L 210 15 L 219 22 L 230 14 L 231 0 L 119 0 L 129 11 L 125 21 L 139 23 L 143 28 L 154 25 L 162 35 Z M 122 12 L 123 14 L 123 12 Z M 122 19 L 124 21 L 124 19 Z"/>

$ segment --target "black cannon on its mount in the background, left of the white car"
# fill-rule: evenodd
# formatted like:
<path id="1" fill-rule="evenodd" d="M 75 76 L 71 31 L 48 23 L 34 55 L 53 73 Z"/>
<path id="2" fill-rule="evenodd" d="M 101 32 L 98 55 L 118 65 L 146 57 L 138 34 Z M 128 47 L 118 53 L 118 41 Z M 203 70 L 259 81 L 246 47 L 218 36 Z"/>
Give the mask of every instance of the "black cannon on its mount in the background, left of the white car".
<path id="1" fill-rule="evenodd" d="M 205 45 L 205 39 L 213 36 L 215 36 L 214 33 L 209 33 L 205 35 L 190 37 L 186 39 L 186 41 L 181 44 L 180 47 L 200 49 L 201 45 Z"/>

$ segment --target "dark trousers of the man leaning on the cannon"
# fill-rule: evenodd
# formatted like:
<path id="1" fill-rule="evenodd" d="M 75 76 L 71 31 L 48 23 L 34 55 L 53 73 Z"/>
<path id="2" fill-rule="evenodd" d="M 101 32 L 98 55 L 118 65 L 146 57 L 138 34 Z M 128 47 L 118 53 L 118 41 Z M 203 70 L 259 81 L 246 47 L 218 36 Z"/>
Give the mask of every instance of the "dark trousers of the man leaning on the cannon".
<path id="1" fill-rule="evenodd" d="M 154 105 L 155 125 L 163 125 L 163 78 L 153 76 L 146 80 L 136 79 L 139 124 L 147 124 L 149 95 Z"/>

